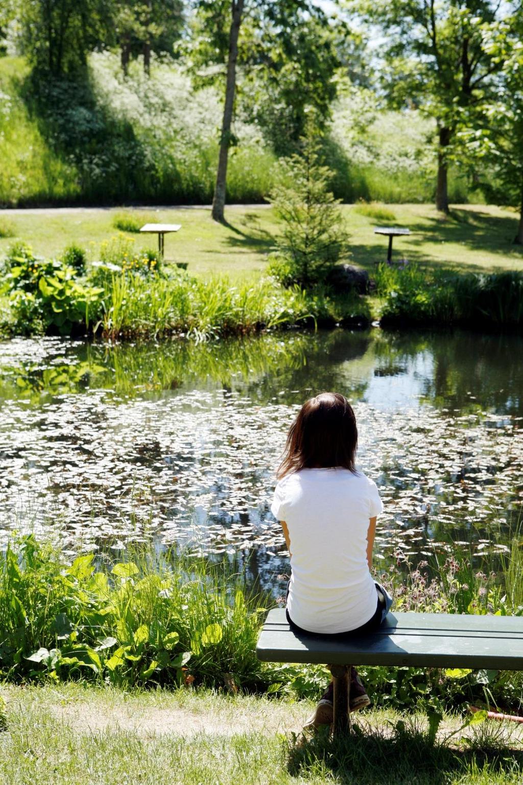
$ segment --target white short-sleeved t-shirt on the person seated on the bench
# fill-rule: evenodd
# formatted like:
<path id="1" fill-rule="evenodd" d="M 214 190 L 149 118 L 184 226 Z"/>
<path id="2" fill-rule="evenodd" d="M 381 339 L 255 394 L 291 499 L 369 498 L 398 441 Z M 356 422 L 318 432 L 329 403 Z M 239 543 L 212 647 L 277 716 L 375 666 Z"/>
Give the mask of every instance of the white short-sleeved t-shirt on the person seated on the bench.
<path id="1" fill-rule="evenodd" d="M 376 483 L 349 469 L 301 469 L 274 491 L 271 511 L 289 528 L 287 610 L 314 633 L 355 630 L 376 612 L 367 564 L 369 519 L 383 511 Z"/>

